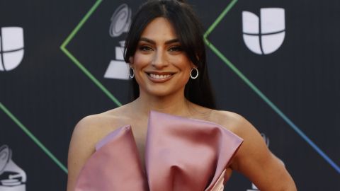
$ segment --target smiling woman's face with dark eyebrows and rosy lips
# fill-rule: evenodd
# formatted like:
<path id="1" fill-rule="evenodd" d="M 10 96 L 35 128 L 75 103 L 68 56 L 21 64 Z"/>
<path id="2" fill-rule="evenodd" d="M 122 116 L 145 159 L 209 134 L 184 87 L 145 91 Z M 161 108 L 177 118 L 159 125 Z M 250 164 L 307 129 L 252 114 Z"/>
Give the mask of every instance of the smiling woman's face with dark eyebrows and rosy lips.
<path id="1" fill-rule="evenodd" d="M 183 52 L 171 23 L 161 17 L 143 31 L 130 65 L 140 93 L 152 96 L 183 92 L 194 66 Z"/>

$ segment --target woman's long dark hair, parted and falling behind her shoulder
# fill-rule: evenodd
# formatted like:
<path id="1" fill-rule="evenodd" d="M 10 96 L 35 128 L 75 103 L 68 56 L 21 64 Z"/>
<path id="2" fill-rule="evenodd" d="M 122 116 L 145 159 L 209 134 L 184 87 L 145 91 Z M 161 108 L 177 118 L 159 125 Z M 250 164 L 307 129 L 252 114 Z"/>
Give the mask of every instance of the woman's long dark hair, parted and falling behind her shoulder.
<path id="1" fill-rule="evenodd" d="M 196 13 L 184 1 L 152 0 L 140 6 L 132 20 L 125 41 L 124 60 L 129 62 L 133 57 L 143 30 L 154 18 L 166 18 L 174 27 L 181 47 L 188 59 L 198 68 L 197 79 L 189 79 L 186 83 L 184 96 L 192 103 L 206 108 L 215 109 L 215 98 L 212 93 L 206 64 L 205 45 L 203 42 L 203 27 Z M 132 99 L 140 96 L 137 81 L 132 79 Z"/>

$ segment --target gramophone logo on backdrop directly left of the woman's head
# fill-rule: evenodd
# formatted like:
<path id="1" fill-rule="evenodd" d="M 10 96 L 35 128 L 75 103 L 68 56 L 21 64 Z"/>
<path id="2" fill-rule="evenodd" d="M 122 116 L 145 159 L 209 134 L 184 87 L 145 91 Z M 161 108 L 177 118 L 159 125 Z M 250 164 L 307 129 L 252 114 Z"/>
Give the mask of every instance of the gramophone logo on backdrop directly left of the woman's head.
<path id="1" fill-rule="evenodd" d="M 115 9 L 115 13 L 111 17 L 109 31 L 111 37 L 119 37 L 128 32 L 131 25 L 131 15 L 132 11 L 127 4 L 122 4 Z M 125 41 L 120 41 L 119 44 L 120 46 L 115 47 L 115 59 L 111 60 L 104 74 L 106 79 L 129 79 L 129 66 L 123 58 Z"/>

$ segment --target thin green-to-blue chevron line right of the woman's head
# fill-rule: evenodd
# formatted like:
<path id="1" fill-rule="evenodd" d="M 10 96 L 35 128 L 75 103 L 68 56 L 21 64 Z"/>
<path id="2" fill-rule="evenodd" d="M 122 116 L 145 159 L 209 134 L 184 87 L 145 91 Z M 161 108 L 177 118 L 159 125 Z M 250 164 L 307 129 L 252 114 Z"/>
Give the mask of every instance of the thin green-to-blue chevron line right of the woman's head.
<path id="1" fill-rule="evenodd" d="M 274 110 L 274 112 L 276 112 L 285 122 L 288 123 L 288 125 L 290 127 L 292 127 L 293 130 L 295 130 L 295 132 L 297 134 L 300 135 L 300 137 L 302 137 L 302 139 L 304 139 L 307 144 L 310 144 L 310 146 L 312 146 L 312 148 L 317 151 L 317 153 L 322 156 L 322 158 L 324 158 L 325 161 L 327 161 L 327 163 L 329 163 L 329 165 L 331 167 L 333 167 L 338 173 L 340 173 L 340 167 L 334 163 L 334 161 L 331 160 L 331 158 L 329 158 L 329 156 L 327 156 L 327 154 L 324 153 L 324 151 L 322 151 L 322 149 L 319 149 L 319 147 L 314 144 L 314 142 L 307 137 L 307 135 L 302 132 L 300 130 L 299 127 L 297 127 L 297 125 L 295 125 L 273 102 L 271 102 L 271 100 L 269 100 L 269 98 L 267 98 L 267 96 L 265 96 L 260 90 L 259 88 L 257 88 L 254 83 L 252 83 L 251 81 L 249 81 L 249 79 L 246 78 L 246 76 L 244 76 L 244 74 L 242 74 L 241 71 L 239 71 L 239 69 L 237 69 L 236 66 L 234 66 L 234 64 L 232 64 L 232 62 L 229 61 L 229 59 L 227 59 L 227 57 L 225 57 L 225 55 L 222 54 L 222 52 L 220 52 L 220 50 L 217 49 L 217 47 L 215 47 L 214 45 L 212 45 L 212 43 L 208 40 L 208 35 L 210 35 L 210 33 L 217 27 L 217 25 L 222 21 L 223 18 L 225 18 L 225 16 L 227 15 L 227 13 L 230 11 L 230 9 L 232 9 L 232 7 L 237 3 L 237 0 L 232 0 L 227 7 L 225 8 L 224 11 L 222 11 L 222 13 L 220 13 L 220 16 L 217 17 L 217 19 L 215 20 L 214 23 L 212 23 L 212 25 L 210 25 L 210 27 L 208 28 L 208 30 L 205 32 L 205 34 L 203 35 L 205 44 L 210 48 L 210 50 L 212 50 L 212 52 L 214 52 L 217 57 L 219 57 L 220 59 L 222 59 L 222 61 L 227 64 L 227 66 L 229 66 L 230 69 L 232 69 L 232 71 L 234 71 L 235 74 L 237 74 L 237 76 L 239 76 L 239 78 L 242 79 L 242 81 L 244 81 L 244 83 L 246 83 L 246 85 L 249 86 L 249 88 L 251 88 L 251 90 L 253 90 L 265 103 L 267 103 L 267 105 Z"/>

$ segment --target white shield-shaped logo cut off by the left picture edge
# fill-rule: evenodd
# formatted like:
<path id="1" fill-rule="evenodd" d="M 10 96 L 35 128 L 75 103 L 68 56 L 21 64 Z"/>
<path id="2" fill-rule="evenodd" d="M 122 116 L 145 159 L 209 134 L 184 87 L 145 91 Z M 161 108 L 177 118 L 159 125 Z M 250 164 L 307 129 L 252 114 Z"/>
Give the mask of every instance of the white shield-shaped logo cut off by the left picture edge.
<path id="1" fill-rule="evenodd" d="M 15 69 L 23 59 L 23 28 L 3 27 L 0 32 L 0 71 Z"/>

